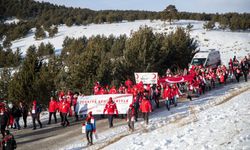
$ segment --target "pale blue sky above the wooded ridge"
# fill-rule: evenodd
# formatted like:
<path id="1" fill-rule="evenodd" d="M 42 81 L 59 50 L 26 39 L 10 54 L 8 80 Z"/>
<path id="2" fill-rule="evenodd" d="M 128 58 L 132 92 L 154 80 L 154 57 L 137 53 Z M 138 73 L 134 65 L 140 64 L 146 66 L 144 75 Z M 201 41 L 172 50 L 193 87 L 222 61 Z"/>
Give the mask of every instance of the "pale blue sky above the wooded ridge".
<path id="1" fill-rule="evenodd" d="M 89 8 L 92 10 L 150 10 L 162 11 L 169 4 L 178 11 L 250 13 L 250 0 L 36 0 L 57 5 Z"/>

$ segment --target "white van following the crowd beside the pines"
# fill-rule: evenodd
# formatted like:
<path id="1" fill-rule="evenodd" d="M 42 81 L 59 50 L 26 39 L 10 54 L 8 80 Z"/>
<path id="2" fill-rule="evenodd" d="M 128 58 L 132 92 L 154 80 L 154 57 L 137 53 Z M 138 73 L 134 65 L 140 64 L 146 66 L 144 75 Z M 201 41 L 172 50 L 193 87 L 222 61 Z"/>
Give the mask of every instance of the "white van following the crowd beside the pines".
<path id="1" fill-rule="evenodd" d="M 196 53 L 191 61 L 192 65 L 203 65 L 204 67 L 217 68 L 221 65 L 220 52 L 215 49 L 208 49 Z"/>

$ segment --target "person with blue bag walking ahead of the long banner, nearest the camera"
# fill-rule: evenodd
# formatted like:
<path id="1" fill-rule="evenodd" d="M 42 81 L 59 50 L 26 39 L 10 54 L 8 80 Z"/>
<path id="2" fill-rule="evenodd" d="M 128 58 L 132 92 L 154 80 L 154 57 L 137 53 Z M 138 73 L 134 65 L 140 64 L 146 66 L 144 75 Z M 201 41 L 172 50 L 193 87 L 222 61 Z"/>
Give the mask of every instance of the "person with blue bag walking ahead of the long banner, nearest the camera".
<path id="1" fill-rule="evenodd" d="M 95 119 L 92 115 L 92 111 L 88 113 L 88 116 L 85 121 L 86 121 L 85 130 L 86 130 L 88 145 L 93 145 L 93 133 L 96 132 L 96 124 L 95 124 Z"/>

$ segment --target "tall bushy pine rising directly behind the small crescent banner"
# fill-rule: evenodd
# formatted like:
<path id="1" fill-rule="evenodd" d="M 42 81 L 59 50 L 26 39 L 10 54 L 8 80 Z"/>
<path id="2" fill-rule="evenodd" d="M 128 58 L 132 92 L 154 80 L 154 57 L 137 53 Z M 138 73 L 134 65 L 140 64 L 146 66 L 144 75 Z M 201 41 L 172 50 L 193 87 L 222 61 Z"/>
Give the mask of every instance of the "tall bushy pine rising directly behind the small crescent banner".
<path id="1" fill-rule="evenodd" d="M 134 71 L 154 71 L 153 63 L 157 61 L 156 47 L 152 28 L 140 27 L 126 42 L 124 52 L 126 63 Z"/>

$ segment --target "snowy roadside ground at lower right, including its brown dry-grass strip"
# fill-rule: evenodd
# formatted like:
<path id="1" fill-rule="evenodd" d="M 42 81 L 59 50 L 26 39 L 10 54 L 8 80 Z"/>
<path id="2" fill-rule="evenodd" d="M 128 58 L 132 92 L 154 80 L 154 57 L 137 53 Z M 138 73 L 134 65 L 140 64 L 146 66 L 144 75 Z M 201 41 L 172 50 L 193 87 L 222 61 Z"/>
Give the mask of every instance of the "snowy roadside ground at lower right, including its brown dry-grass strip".
<path id="1" fill-rule="evenodd" d="M 133 133 L 123 125 L 99 133 L 91 147 L 81 135 L 61 149 L 250 149 L 249 97 L 249 82 L 229 84 L 170 111 L 161 108 Z"/>

